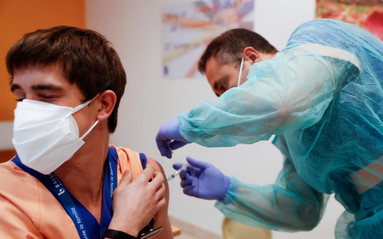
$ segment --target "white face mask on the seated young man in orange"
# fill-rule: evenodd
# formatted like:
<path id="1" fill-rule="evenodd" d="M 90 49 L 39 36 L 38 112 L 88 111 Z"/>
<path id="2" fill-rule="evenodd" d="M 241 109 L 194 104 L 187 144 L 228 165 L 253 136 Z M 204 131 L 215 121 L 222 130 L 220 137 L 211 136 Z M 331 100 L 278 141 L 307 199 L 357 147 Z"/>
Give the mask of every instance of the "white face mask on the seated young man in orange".
<path id="1" fill-rule="evenodd" d="M 79 138 L 79 127 L 72 114 L 93 99 L 75 108 L 28 99 L 18 102 L 12 143 L 21 163 L 42 174 L 49 174 L 72 158 L 85 143 L 83 138 L 98 123 L 96 120 Z"/>

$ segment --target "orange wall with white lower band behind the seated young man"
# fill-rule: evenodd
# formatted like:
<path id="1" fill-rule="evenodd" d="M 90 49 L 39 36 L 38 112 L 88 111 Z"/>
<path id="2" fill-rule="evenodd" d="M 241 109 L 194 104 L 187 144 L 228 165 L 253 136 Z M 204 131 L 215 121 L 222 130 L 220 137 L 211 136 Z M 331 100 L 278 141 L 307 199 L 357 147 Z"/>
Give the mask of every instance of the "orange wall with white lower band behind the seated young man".
<path id="1" fill-rule="evenodd" d="M 12 145 L 15 96 L 5 67 L 8 49 L 25 33 L 57 25 L 85 26 L 85 0 L 0 1 L 0 162 L 14 155 Z"/>

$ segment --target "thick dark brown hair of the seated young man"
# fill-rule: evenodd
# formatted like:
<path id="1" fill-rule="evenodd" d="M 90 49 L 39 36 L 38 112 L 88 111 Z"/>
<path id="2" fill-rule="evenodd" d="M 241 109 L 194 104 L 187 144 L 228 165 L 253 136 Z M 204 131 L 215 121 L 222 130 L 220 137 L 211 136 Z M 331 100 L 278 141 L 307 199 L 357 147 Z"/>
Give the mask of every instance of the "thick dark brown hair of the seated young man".
<path id="1" fill-rule="evenodd" d="M 7 69 L 13 78 L 15 69 L 58 63 L 63 75 L 76 84 L 84 102 L 98 93 L 112 90 L 116 106 L 108 118 L 111 133 L 117 127 L 119 102 L 124 94 L 126 74 L 117 52 L 100 33 L 72 26 L 56 26 L 25 34 L 8 51 Z"/>

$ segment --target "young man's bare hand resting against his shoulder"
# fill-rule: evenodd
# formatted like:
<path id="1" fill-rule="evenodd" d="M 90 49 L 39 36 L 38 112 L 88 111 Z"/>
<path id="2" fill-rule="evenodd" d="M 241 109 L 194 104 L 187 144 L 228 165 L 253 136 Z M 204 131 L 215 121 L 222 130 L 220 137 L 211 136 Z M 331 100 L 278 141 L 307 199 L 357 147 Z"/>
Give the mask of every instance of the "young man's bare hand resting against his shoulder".
<path id="1" fill-rule="evenodd" d="M 126 170 L 113 192 L 113 218 L 109 228 L 137 237 L 154 214 L 166 205 L 164 193 L 164 176 L 154 172 L 153 166 L 147 165 L 133 182 L 131 172 Z"/>

